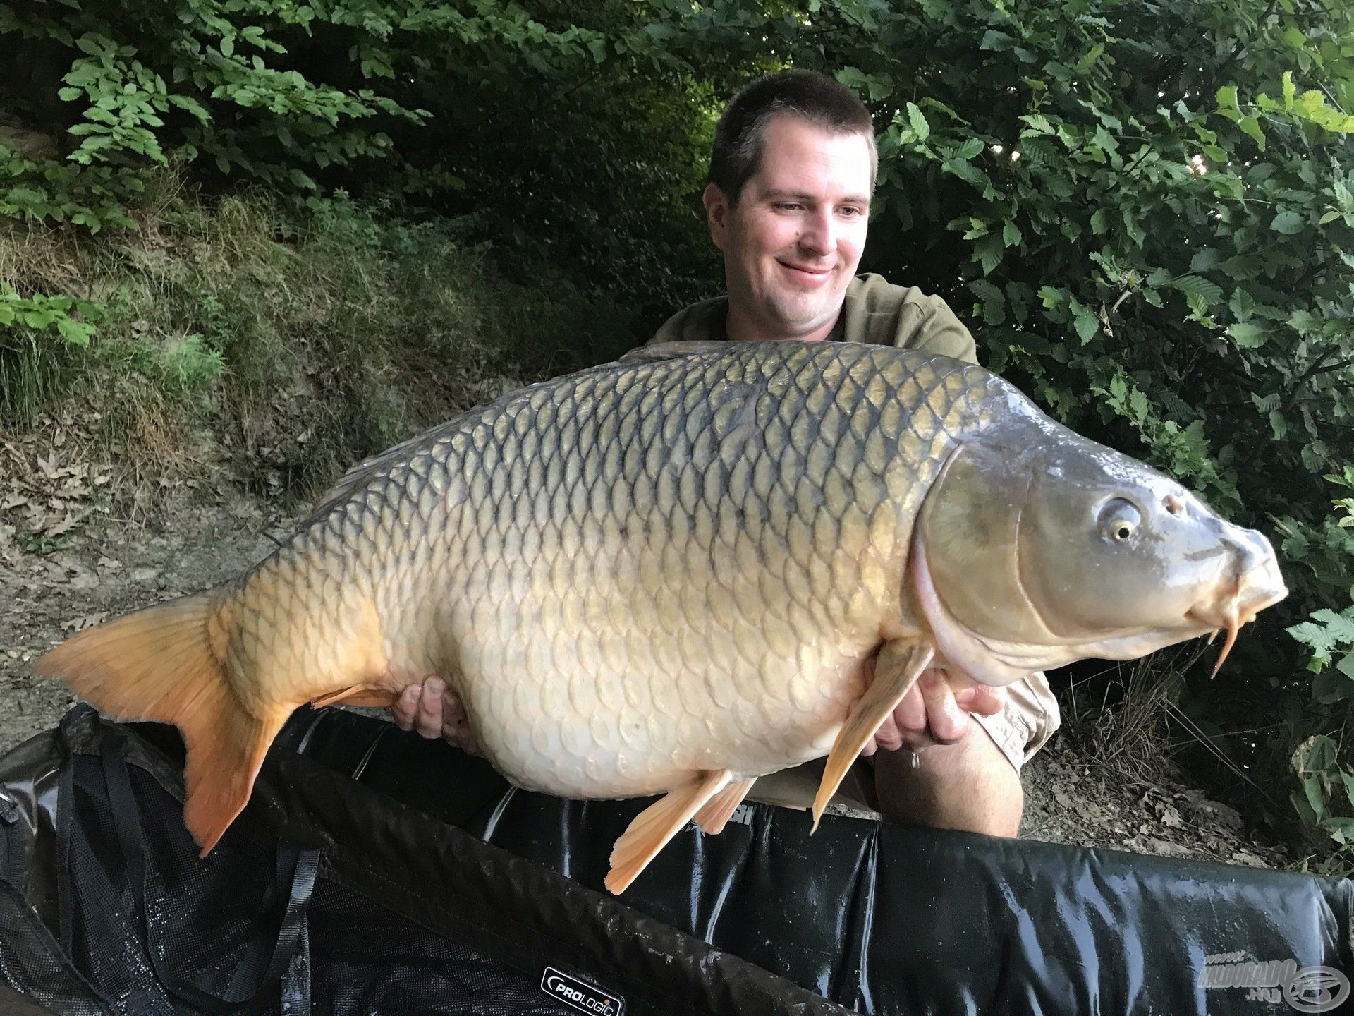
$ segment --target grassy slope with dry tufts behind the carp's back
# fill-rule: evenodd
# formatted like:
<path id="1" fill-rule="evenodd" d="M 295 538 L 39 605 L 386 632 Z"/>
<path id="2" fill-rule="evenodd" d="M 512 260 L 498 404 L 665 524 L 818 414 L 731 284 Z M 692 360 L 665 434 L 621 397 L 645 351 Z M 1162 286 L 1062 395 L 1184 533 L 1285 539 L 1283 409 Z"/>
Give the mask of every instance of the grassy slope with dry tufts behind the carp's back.
<path id="1" fill-rule="evenodd" d="M 612 345 L 627 339 L 624 316 L 563 282 L 504 282 L 456 222 L 341 198 L 305 213 L 260 194 L 209 205 L 172 177 L 138 219 L 95 237 L 0 232 L 0 283 L 107 308 L 87 350 L 0 326 L 0 432 L 79 405 L 99 412 L 108 457 L 134 475 L 225 458 L 252 488 L 303 499 L 372 451 L 575 363 L 600 321 Z"/>

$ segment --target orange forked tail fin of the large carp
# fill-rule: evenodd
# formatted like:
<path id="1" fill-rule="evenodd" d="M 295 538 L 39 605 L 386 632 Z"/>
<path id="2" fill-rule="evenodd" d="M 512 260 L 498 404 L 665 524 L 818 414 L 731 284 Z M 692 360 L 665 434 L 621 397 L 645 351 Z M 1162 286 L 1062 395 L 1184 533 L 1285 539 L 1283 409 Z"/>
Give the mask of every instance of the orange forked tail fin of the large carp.
<path id="1" fill-rule="evenodd" d="M 35 664 L 114 719 L 156 719 L 183 732 L 183 817 L 203 856 L 249 801 L 291 713 L 279 704 L 253 715 L 240 702 L 218 652 L 227 633 L 211 599 L 185 596 L 81 631 Z"/>

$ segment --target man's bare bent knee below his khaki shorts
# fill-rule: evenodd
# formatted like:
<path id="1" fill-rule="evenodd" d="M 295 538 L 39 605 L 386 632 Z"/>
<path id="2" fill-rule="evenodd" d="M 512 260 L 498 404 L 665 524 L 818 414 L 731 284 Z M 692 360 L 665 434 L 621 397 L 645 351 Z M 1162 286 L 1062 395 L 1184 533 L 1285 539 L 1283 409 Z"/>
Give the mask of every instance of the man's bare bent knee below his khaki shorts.
<path id="1" fill-rule="evenodd" d="M 879 810 L 892 821 L 988 836 L 1020 833 L 1020 774 L 976 725 L 963 740 L 915 756 L 906 749 L 879 752 L 875 788 Z"/>

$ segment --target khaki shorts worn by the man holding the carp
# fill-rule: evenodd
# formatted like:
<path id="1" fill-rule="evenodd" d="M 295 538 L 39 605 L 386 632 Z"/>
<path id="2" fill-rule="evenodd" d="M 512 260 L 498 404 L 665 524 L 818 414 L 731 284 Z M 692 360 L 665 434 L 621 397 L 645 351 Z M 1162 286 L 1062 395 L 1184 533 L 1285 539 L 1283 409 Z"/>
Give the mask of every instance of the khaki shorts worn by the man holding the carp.
<path id="1" fill-rule="evenodd" d="M 1048 677 L 1033 673 L 1006 685 L 1006 708 L 992 717 L 974 717 L 992 744 L 1006 756 L 1016 772 L 1044 746 L 1057 730 L 1062 717 L 1057 699 L 1048 687 Z M 757 780 L 750 801 L 761 801 L 783 807 L 807 809 L 814 803 L 823 774 L 823 760 L 804 763 L 793 769 L 781 769 Z M 857 763 L 846 774 L 841 788 L 827 806 L 830 813 L 877 818 L 875 802 L 875 772 L 868 759 Z"/>

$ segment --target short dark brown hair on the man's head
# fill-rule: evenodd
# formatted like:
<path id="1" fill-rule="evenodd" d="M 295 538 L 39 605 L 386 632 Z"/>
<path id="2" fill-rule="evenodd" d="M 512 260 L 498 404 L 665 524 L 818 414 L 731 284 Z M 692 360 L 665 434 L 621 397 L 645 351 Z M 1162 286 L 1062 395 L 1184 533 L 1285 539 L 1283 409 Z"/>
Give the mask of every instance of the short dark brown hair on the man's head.
<path id="1" fill-rule="evenodd" d="M 781 70 L 753 81 L 735 95 L 715 126 L 709 183 L 738 205 L 743 184 L 761 167 L 766 125 L 780 115 L 799 117 L 833 134 L 864 134 L 869 141 L 869 186 L 875 187 L 879 152 L 869 110 L 839 81 L 816 70 Z"/>

